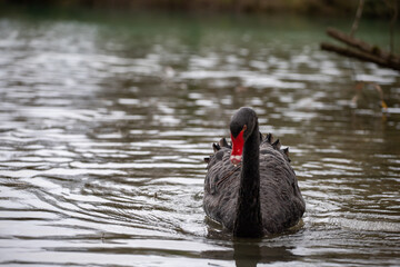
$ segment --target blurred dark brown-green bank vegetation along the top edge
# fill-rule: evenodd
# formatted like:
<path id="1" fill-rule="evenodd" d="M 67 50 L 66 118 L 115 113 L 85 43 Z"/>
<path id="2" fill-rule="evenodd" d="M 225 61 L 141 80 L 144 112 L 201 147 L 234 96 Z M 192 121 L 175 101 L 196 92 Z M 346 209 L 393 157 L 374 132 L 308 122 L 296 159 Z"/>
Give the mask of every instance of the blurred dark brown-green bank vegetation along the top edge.
<path id="1" fill-rule="evenodd" d="M 383 0 L 367 0 L 363 16 L 390 18 Z M 358 1 L 349 0 L 0 0 L 0 7 L 170 10 L 190 12 L 287 13 L 307 16 L 354 16 Z"/>

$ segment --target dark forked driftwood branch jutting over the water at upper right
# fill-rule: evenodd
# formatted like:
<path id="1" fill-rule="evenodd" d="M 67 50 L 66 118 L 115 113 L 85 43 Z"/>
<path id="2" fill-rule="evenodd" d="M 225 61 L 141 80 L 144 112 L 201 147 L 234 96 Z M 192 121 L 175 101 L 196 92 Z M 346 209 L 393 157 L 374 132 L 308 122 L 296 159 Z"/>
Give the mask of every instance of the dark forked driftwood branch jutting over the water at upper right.
<path id="1" fill-rule="evenodd" d="M 327 33 L 332 38 L 344 42 L 346 44 L 348 44 L 348 47 L 343 48 L 340 46 L 322 42 L 322 50 L 332 51 L 341 56 L 373 62 L 386 68 L 400 70 L 400 57 L 398 55 L 383 51 L 377 46 L 371 46 L 360 39 L 352 38 L 333 28 L 328 28 Z"/>

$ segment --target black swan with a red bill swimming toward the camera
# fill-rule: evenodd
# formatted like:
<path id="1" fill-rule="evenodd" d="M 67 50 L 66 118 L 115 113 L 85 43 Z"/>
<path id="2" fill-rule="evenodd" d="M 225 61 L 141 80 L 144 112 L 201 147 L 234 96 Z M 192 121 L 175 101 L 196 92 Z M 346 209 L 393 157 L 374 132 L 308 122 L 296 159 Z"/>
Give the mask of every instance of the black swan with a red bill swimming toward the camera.
<path id="1" fill-rule="evenodd" d="M 306 202 L 289 152 L 279 139 L 259 132 L 251 108 L 240 108 L 230 122 L 232 147 L 223 138 L 206 158 L 203 208 L 236 237 L 278 234 L 298 224 Z"/>

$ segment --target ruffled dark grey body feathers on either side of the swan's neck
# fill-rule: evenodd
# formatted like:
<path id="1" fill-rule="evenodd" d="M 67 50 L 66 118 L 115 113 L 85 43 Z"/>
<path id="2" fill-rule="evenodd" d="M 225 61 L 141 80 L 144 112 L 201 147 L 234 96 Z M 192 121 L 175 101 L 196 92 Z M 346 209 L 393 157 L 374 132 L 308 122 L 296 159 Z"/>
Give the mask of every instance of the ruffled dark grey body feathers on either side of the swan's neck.
<path id="1" fill-rule="evenodd" d="M 289 149 L 280 149 L 279 139 L 260 135 L 260 202 L 266 234 L 280 233 L 296 225 L 306 204 L 290 166 Z M 241 167 L 230 162 L 231 147 L 226 139 L 213 144 L 214 154 L 208 162 L 204 180 L 206 214 L 228 229 L 233 228 L 240 186 Z"/>

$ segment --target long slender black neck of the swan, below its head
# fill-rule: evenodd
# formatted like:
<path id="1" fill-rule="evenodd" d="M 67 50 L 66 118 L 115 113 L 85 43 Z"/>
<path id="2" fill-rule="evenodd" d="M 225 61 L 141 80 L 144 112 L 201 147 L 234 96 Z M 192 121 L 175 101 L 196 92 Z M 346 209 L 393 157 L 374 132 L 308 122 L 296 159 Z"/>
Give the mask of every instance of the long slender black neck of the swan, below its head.
<path id="1" fill-rule="evenodd" d="M 233 235 L 237 237 L 262 236 L 259 135 L 258 123 L 256 122 L 254 129 L 243 147 L 237 217 L 233 226 Z"/>

